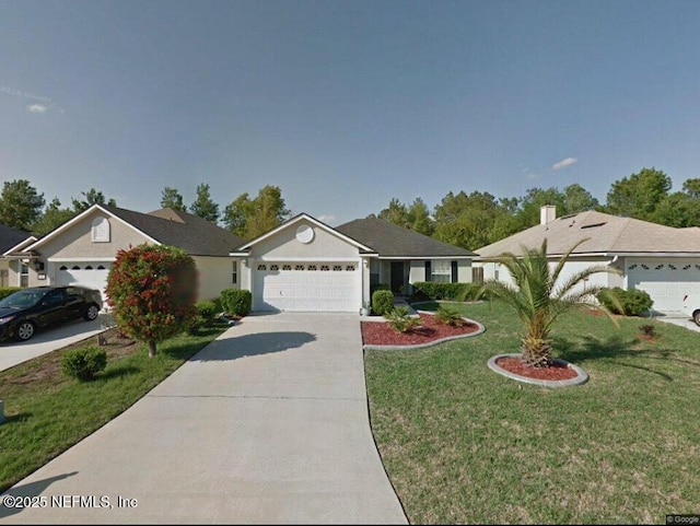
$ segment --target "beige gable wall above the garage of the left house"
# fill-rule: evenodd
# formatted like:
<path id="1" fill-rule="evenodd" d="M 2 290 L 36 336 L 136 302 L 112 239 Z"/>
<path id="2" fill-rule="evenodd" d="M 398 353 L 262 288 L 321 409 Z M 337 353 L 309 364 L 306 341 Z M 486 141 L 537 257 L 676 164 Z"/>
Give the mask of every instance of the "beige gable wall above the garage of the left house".
<path id="1" fill-rule="evenodd" d="M 107 243 L 92 241 L 92 222 L 98 218 L 109 222 L 110 236 Z M 72 224 L 45 244 L 37 247 L 43 260 L 47 258 L 91 258 L 115 257 L 120 248 L 151 243 L 144 235 L 118 219 L 112 218 L 101 210 L 94 210 Z"/>

